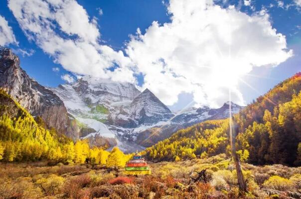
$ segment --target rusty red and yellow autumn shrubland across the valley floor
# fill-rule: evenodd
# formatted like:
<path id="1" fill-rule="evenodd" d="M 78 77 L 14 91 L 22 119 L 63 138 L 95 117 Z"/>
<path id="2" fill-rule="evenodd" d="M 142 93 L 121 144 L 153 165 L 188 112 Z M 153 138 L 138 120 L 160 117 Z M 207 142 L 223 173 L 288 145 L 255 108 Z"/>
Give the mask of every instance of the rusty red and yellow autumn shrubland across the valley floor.
<path id="1" fill-rule="evenodd" d="M 1 163 L 2 199 L 272 199 L 264 189 L 301 193 L 301 167 L 242 164 L 248 193 L 239 193 L 235 167 L 225 154 L 204 159 L 149 163 L 150 176 L 124 170 L 47 162 Z M 206 182 L 191 177 L 206 169 Z"/>

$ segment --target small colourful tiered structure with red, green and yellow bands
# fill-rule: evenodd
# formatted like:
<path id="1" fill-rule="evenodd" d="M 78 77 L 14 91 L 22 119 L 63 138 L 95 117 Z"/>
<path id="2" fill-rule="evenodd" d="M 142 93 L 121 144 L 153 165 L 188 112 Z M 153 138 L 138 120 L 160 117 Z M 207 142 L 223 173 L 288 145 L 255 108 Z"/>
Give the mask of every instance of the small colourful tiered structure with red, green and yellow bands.
<path id="1" fill-rule="evenodd" d="M 136 153 L 132 160 L 130 160 L 126 167 L 125 173 L 127 175 L 150 175 L 151 170 L 148 163 L 142 158 L 139 153 Z"/>

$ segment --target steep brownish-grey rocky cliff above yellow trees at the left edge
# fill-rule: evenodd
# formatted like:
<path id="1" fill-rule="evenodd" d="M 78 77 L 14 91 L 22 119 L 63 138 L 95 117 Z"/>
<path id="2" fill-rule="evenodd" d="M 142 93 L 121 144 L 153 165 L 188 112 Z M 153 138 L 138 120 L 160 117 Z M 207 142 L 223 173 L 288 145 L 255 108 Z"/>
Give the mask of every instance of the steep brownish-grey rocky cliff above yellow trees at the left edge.
<path id="1" fill-rule="evenodd" d="M 37 83 L 20 68 L 19 58 L 8 48 L 0 47 L 0 87 L 16 99 L 33 116 L 40 116 L 49 128 L 72 138 L 74 131 L 67 131 L 67 109 L 63 101 L 51 90 Z"/>

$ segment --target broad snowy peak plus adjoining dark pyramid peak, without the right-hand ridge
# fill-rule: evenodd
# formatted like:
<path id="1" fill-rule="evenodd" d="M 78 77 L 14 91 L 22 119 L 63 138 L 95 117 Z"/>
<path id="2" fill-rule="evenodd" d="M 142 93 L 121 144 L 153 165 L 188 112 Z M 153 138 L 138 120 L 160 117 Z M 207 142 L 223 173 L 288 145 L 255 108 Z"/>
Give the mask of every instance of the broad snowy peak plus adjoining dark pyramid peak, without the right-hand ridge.
<path id="1" fill-rule="evenodd" d="M 49 88 L 64 101 L 80 127 L 80 138 L 91 144 L 118 145 L 129 151 L 137 135 L 162 125 L 173 114 L 151 93 L 134 84 L 84 76 L 73 84 Z M 131 149 L 130 149 L 131 150 Z"/>

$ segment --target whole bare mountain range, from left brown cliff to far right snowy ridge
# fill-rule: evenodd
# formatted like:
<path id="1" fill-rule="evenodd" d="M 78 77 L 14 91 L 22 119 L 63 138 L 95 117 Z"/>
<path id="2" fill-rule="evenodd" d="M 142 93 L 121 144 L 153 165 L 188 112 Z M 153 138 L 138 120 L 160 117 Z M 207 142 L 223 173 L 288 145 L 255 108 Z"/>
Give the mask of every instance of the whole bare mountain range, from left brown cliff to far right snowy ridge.
<path id="1" fill-rule="evenodd" d="M 149 89 L 134 84 L 84 76 L 72 84 L 46 88 L 19 66 L 18 57 L 0 47 L 0 87 L 33 116 L 70 138 L 87 138 L 91 145 L 119 146 L 134 152 L 163 140 L 175 131 L 210 119 L 229 116 L 221 108 L 189 108 L 173 114 Z M 242 107 L 232 103 L 232 113 Z"/>

